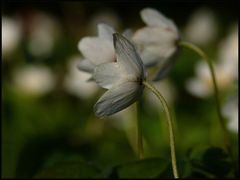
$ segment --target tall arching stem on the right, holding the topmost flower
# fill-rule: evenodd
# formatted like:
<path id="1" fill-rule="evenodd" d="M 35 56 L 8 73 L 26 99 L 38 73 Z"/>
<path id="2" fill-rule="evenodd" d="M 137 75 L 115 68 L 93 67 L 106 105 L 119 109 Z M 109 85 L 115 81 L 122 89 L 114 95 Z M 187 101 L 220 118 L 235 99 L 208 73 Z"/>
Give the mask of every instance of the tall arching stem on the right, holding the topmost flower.
<path id="1" fill-rule="evenodd" d="M 225 124 L 225 121 L 224 121 L 224 118 L 223 118 L 223 115 L 222 115 L 222 112 L 221 112 L 218 86 L 217 86 L 217 81 L 216 81 L 216 76 L 215 76 L 215 73 L 214 73 L 213 65 L 212 65 L 209 57 L 200 48 L 198 48 L 194 44 L 191 44 L 191 43 L 185 42 L 185 41 L 180 41 L 179 45 L 193 50 L 199 56 L 201 56 L 204 60 L 206 60 L 206 62 L 208 64 L 208 67 L 210 69 L 211 76 L 212 76 L 212 81 L 213 81 L 213 87 L 214 87 L 214 92 L 215 92 L 214 97 L 215 97 L 215 101 L 216 101 L 216 108 L 217 108 L 219 124 L 220 124 L 222 132 L 223 132 L 224 146 L 225 146 L 225 150 L 231 156 L 232 153 L 231 153 L 230 140 L 229 140 L 229 135 L 228 135 L 228 131 L 227 131 L 227 128 L 226 128 L 226 124 Z"/>

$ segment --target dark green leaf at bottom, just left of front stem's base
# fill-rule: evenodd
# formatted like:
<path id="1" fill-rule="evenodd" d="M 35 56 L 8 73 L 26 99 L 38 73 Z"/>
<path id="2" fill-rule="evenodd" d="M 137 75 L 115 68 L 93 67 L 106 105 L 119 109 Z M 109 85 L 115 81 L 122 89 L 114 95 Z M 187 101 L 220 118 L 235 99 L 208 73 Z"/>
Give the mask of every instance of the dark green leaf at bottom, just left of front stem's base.
<path id="1" fill-rule="evenodd" d="M 161 158 L 144 159 L 117 167 L 119 178 L 156 178 L 167 168 L 169 161 Z"/>

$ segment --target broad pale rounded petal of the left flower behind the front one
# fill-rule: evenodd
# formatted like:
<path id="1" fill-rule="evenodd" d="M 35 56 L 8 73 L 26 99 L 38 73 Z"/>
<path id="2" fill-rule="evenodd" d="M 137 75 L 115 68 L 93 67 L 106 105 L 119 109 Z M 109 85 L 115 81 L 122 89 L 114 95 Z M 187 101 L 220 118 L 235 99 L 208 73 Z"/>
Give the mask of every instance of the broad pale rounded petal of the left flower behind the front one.
<path id="1" fill-rule="evenodd" d="M 95 37 L 82 38 L 78 48 L 83 56 L 95 65 L 115 60 L 113 44 L 108 40 Z"/>

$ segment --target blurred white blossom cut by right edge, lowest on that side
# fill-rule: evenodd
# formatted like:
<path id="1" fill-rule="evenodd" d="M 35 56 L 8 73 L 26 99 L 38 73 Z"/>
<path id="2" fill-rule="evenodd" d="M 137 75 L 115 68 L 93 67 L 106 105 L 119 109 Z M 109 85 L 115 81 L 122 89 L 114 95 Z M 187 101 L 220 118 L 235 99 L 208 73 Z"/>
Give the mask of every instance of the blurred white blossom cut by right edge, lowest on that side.
<path id="1" fill-rule="evenodd" d="M 227 125 L 228 128 L 238 133 L 238 96 L 228 99 L 223 106 L 223 114 L 229 120 Z"/>

